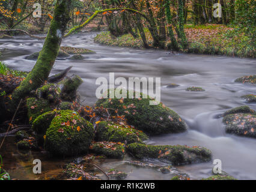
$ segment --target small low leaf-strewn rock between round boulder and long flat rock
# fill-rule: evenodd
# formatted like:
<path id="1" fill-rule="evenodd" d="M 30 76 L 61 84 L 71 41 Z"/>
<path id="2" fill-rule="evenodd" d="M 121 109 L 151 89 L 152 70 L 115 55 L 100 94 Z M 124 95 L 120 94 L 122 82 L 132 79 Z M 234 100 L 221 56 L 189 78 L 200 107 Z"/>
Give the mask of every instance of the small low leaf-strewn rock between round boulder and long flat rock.
<path id="1" fill-rule="evenodd" d="M 108 158 L 123 158 L 125 154 L 124 144 L 115 142 L 94 142 L 90 146 L 90 151 Z"/>

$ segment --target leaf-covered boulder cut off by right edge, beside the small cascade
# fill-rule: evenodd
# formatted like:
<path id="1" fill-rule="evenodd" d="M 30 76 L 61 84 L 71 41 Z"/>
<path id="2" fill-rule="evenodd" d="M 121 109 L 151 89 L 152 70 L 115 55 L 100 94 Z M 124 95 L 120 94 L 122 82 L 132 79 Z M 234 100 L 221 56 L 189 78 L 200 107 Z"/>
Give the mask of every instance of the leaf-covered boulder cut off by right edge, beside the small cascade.
<path id="1" fill-rule="evenodd" d="M 236 113 L 223 118 L 227 133 L 240 136 L 256 137 L 256 115 L 251 113 Z"/>

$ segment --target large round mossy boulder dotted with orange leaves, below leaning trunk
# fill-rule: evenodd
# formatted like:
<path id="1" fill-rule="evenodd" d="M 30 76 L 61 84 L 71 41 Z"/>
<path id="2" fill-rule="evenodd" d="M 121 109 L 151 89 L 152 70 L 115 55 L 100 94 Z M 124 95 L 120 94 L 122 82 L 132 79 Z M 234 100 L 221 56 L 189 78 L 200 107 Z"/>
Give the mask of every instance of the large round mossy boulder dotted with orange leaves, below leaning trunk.
<path id="1" fill-rule="evenodd" d="M 47 128 L 44 148 L 53 155 L 77 155 L 88 151 L 93 125 L 72 110 L 62 110 Z"/>

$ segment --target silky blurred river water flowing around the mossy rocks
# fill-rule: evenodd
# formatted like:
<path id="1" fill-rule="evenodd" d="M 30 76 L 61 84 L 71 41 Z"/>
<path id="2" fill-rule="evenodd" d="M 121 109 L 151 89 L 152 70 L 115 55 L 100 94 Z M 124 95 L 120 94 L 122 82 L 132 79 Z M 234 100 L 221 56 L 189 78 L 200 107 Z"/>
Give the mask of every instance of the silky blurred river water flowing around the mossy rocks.
<path id="1" fill-rule="evenodd" d="M 256 74 L 255 59 L 228 58 L 225 56 L 187 55 L 168 53 L 165 50 L 138 50 L 120 47 L 107 47 L 93 43 L 96 33 L 75 34 L 65 39 L 62 46 L 84 47 L 96 51 L 85 55 L 82 61 L 56 60 L 51 71 L 56 74 L 73 65 L 69 74 L 78 74 L 84 83 L 79 92 L 87 105 L 93 105 L 97 98 L 95 85 L 98 77 L 160 77 L 161 101 L 177 112 L 187 123 L 188 131 L 181 134 L 164 134 L 150 137 L 148 143 L 154 145 L 204 146 L 212 151 L 213 159 L 222 161 L 222 170 L 237 179 L 256 179 L 256 139 L 226 134 L 219 115 L 232 107 L 248 104 L 256 109 L 256 104 L 243 101 L 240 96 L 255 94 L 255 86 L 234 83 L 237 77 Z M 28 37 L 0 40 L 0 48 L 6 48 L 1 60 L 8 67 L 29 71 L 35 61 L 25 59 L 38 52 L 43 40 Z M 177 88 L 166 88 L 169 83 L 177 83 Z M 204 92 L 188 92 L 188 86 L 201 86 Z M 10 140 L 11 137 L 8 137 Z M 40 153 L 32 152 L 23 157 L 11 146 L 5 144 L 4 164 L 11 176 L 17 179 L 43 179 L 61 171 L 70 159 L 49 160 Z M 2 149 L 3 150 L 3 149 Z M 2 152 L 1 152 L 2 153 Z M 43 174 L 32 173 L 32 159 L 41 158 Z M 126 161 L 105 160 L 99 164 L 102 169 L 118 167 L 127 172 L 127 179 L 171 179 L 173 174 L 163 174 L 157 169 L 131 166 Z M 159 163 L 154 161 L 154 163 Z M 176 167 L 179 172 L 187 173 L 192 179 L 212 175 L 212 163 L 200 163 Z M 104 177 L 103 177 L 104 178 Z"/>

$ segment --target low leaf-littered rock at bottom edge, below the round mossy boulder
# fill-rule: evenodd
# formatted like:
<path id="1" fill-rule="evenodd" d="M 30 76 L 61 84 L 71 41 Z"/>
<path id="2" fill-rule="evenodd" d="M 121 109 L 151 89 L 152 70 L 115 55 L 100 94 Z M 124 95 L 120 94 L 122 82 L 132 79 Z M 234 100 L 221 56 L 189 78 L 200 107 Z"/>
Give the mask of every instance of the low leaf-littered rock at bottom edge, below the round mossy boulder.
<path id="1" fill-rule="evenodd" d="M 82 164 L 69 163 L 64 170 L 69 179 L 74 180 L 98 180 L 94 173 L 88 173 L 85 170 L 85 166 Z"/>

